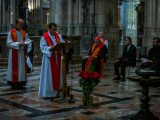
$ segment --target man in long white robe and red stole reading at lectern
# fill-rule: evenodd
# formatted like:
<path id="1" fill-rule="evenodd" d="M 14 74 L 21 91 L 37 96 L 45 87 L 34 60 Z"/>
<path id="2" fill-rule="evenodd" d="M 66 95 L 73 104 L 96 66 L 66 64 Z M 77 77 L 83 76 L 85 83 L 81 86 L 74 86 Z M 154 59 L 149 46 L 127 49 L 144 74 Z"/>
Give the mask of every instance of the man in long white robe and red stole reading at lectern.
<path id="1" fill-rule="evenodd" d="M 48 31 L 43 34 L 40 40 L 40 49 L 43 53 L 40 73 L 39 93 L 43 98 L 54 98 L 59 95 L 59 88 L 62 83 L 61 54 L 62 51 L 52 51 L 57 43 L 65 41 L 57 32 L 57 25 L 50 23 Z"/>

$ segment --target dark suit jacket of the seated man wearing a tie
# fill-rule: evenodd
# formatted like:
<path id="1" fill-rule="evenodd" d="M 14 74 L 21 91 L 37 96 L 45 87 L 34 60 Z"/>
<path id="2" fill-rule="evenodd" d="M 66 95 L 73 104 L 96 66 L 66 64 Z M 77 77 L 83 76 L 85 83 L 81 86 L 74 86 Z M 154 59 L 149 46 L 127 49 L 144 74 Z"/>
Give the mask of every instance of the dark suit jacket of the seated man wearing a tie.
<path id="1" fill-rule="evenodd" d="M 129 50 L 127 51 L 128 46 L 125 45 L 123 48 L 123 54 L 122 54 L 122 58 L 126 58 L 127 64 L 129 66 L 135 67 L 136 66 L 136 55 L 137 55 L 137 50 L 136 47 L 131 44 L 131 46 L 129 47 Z"/>

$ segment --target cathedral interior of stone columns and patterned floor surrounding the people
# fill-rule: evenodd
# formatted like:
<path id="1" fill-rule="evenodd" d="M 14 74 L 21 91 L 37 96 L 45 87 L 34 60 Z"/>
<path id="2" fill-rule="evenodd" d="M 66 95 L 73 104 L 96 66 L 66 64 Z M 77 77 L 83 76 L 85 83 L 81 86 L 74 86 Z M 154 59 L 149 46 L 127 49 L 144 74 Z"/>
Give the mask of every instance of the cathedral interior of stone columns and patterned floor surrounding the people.
<path id="1" fill-rule="evenodd" d="M 114 81 L 115 58 L 122 54 L 125 36 L 132 38 L 137 48 L 152 47 L 152 39 L 160 37 L 160 0 L 0 0 L 0 120 L 159 120 L 160 78 L 139 79 L 136 67 L 126 67 L 127 79 Z M 34 71 L 27 74 L 24 89 L 12 90 L 7 85 L 8 31 L 17 18 L 34 43 Z M 49 23 L 67 35 L 73 55 L 69 61 L 66 82 L 69 96 L 54 100 L 38 96 L 42 53 L 40 38 Z M 103 31 L 109 42 L 109 59 L 104 64 L 103 77 L 92 93 L 93 104 L 83 106 L 83 91 L 79 85 L 82 59 L 93 43 L 93 37 Z M 143 81 L 143 80 L 142 80 Z"/>

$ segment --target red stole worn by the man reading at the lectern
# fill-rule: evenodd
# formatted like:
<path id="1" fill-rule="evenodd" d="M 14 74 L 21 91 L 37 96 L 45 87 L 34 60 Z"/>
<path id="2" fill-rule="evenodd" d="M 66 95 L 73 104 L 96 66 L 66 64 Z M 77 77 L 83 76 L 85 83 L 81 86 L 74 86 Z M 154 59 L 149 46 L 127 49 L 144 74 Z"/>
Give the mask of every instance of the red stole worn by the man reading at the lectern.
<path id="1" fill-rule="evenodd" d="M 48 32 L 46 32 L 43 35 L 43 37 L 47 42 L 47 46 L 54 46 L 52 39 L 49 37 Z M 55 38 L 56 38 L 57 44 L 60 43 L 60 38 L 58 33 L 55 33 Z M 52 84 L 54 89 L 59 89 L 60 87 L 60 68 L 61 68 L 61 52 L 60 51 L 57 51 L 57 58 L 58 59 L 56 61 L 56 55 L 55 55 L 55 52 L 53 52 L 50 58 L 50 65 L 51 65 L 51 74 L 52 74 Z"/>

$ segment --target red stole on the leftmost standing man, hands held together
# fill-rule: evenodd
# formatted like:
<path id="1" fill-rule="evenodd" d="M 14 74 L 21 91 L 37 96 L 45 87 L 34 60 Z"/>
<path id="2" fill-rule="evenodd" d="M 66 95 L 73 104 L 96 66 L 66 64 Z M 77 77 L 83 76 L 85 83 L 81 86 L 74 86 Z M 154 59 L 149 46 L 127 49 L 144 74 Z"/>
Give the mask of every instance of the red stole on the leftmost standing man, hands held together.
<path id="1" fill-rule="evenodd" d="M 13 42 L 17 42 L 17 33 L 16 29 L 11 29 L 11 37 Z M 22 33 L 22 40 L 25 41 L 26 31 L 21 30 Z M 24 56 L 26 55 L 26 52 L 24 51 Z M 26 61 L 26 57 L 24 57 Z M 25 63 L 24 61 L 24 63 Z M 26 66 L 25 66 L 25 75 L 26 75 Z M 12 49 L 12 82 L 18 82 L 18 50 Z"/>

